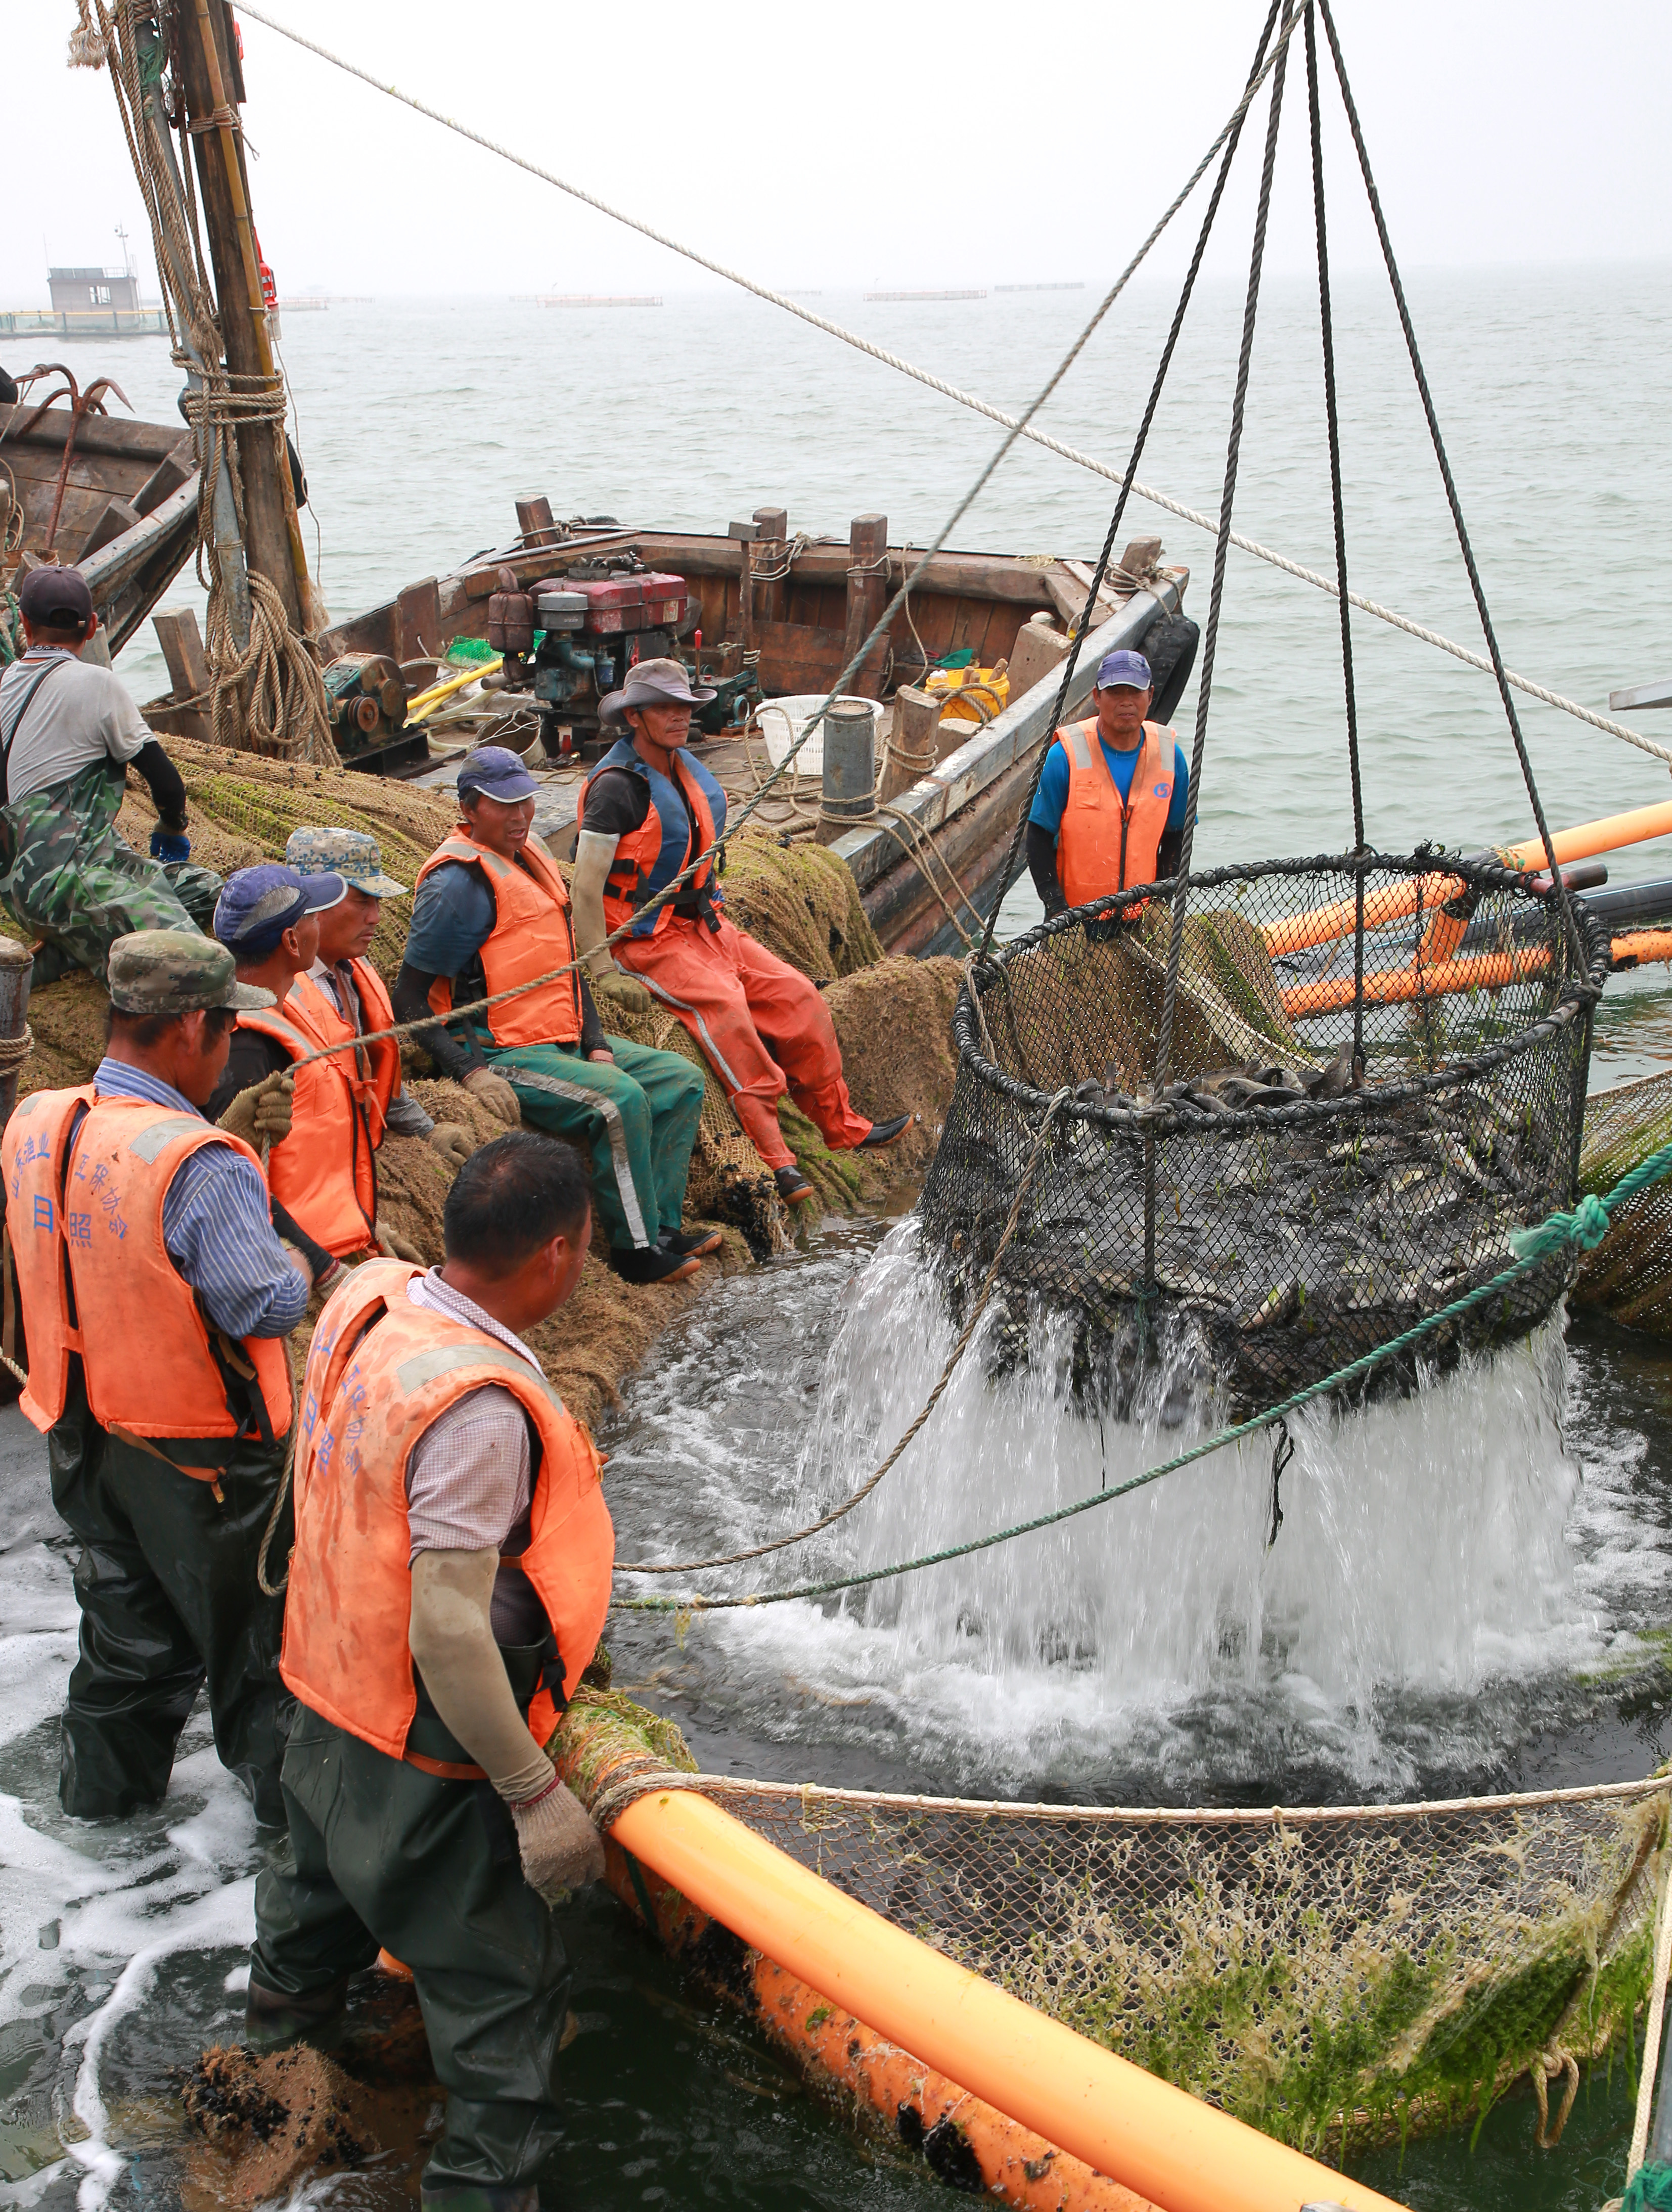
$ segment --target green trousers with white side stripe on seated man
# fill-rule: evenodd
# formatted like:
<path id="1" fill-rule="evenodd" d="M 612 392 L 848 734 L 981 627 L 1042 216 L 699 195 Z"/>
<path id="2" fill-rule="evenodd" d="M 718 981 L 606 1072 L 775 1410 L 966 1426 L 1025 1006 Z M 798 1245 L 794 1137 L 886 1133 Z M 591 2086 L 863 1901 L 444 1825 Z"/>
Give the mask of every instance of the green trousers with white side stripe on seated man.
<path id="1" fill-rule="evenodd" d="M 604 1042 L 615 1064 L 588 1060 L 577 1044 L 487 1046 L 487 1057 L 518 1093 L 524 1121 L 584 1146 L 597 1225 L 621 1252 L 679 1228 L 703 1071 L 628 1037 Z"/>

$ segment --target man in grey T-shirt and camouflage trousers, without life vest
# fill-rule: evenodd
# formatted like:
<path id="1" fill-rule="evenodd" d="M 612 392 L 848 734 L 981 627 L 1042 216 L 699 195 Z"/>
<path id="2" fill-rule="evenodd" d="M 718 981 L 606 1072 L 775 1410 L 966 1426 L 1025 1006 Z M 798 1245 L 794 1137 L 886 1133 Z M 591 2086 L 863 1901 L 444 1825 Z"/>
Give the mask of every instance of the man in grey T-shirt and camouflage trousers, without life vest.
<path id="1" fill-rule="evenodd" d="M 0 898 L 44 938 L 35 984 L 104 975 L 139 929 L 203 929 L 221 878 L 190 865 L 186 785 L 124 684 L 82 655 L 100 617 L 80 568 L 31 568 L 18 593 L 27 653 L 0 677 Z M 128 763 L 150 785 L 150 858 L 117 834 Z"/>

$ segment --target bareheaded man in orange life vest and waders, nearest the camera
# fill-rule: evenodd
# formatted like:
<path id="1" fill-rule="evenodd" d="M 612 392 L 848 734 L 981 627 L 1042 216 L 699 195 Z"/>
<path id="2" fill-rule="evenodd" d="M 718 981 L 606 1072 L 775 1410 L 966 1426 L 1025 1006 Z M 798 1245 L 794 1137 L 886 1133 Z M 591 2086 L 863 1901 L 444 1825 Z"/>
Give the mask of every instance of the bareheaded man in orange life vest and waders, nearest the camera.
<path id="1" fill-rule="evenodd" d="M 551 1907 L 604 1871 L 544 1752 L 593 1659 L 615 1533 L 586 1429 L 522 1343 L 579 1281 L 586 1170 L 495 1137 L 447 1259 L 358 1267 L 307 1354 L 283 1677 L 290 1851 L 257 1878 L 245 2033 L 318 2033 L 387 1949 L 447 2128 L 431 2212 L 537 2212 L 571 1969 Z"/>

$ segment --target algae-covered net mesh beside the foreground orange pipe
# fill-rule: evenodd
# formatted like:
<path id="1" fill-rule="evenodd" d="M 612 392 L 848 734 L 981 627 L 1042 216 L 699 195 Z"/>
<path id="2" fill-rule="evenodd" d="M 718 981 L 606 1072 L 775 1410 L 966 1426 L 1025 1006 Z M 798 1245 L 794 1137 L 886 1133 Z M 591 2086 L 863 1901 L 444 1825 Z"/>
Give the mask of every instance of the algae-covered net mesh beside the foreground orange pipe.
<path id="1" fill-rule="evenodd" d="M 1314 1812 L 706 1778 L 836 1889 L 1305 2150 L 1480 2110 L 1645 2000 L 1668 1783 Z"/>

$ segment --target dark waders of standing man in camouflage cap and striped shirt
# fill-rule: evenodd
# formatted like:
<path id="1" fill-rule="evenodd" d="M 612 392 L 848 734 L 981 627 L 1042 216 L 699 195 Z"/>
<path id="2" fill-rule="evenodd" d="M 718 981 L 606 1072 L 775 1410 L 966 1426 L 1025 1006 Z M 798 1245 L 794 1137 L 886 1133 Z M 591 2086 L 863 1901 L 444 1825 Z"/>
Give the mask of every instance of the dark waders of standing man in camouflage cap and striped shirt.
<path id="1" fill-rule="evenodd" d="M 75 1360 L 46 1460 L 53 1504 L 82 1542 L 82 1650 L 64 1705 L 60 1805 L 84 1820 L 155 1805 L 208 1681 L 221 1765 L 250 1792 L 257 1820 L 279 1827 L 279 1767 L 296 1701 L 279 1681 L 285 1601 L 261 1595 L 257 1557 L 283 1444 L 237 1444 L 217 1498 L 217 1484 L 108 1436 L 88 1413 Z M 292 1526 L 285 1500 L 268 1546 L 270 1579 L 290 1557 Z"/>

